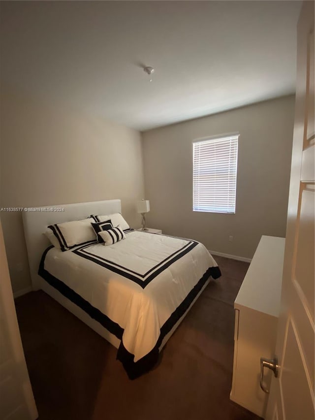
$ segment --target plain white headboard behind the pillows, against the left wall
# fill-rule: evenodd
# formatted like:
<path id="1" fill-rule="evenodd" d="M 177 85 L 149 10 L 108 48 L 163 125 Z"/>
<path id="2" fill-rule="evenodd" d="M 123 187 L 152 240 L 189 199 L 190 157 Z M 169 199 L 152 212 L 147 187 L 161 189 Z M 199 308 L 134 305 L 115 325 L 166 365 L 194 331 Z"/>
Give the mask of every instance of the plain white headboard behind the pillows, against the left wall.
<path id="1" fill-rule="evenodd" d="M 51 211 L 53 208 L 63 211 Z M 35 210 L 39 209 L 39 210 Z M 26 209 L 25 209 L 26 210 Z M 40 277 L 38 267 L 40 258 L 45 249 L 50 245 L 44 235 L 47 226 L 55 223 L 71 222 L 72 220 L 85 219 L 91 214 L 121 213 L 120 200 L 93 201 L 90 203 L 60 204 L 44 207 L 28 208 L 23 211 L 23 225 L 28 251 L 29 265 L 33 290 L 38 290 Z"/>

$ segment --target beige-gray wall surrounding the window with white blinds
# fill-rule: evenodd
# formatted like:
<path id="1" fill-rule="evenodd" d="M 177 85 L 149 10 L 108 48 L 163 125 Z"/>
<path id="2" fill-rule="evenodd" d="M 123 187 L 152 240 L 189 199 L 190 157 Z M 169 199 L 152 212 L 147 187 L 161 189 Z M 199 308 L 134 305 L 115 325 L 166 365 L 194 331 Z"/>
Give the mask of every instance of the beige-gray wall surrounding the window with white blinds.
<path id="1" fill-rule="evenodd" d="M 144 132 L 147 226 L 245 258 L 261 235 L 284 237 L 293 122 L 294 96 L 287 96 Z M 236 214 L 193 212 L 192 141 L 235 131 Z"/>

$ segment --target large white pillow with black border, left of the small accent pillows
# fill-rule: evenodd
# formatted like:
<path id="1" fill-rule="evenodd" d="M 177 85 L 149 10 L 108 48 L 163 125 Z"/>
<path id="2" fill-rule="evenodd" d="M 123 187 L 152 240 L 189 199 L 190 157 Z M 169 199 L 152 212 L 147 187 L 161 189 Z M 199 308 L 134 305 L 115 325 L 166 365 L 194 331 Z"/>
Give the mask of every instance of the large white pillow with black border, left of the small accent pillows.
<path id="1" fill-rule="evenodd" d="M 95 242 L 95 231 L 92 227 L 93 218 L 58 223 L 48 226 L 57 238 L 62 251 L 67 251 L 77 245 Z"/>

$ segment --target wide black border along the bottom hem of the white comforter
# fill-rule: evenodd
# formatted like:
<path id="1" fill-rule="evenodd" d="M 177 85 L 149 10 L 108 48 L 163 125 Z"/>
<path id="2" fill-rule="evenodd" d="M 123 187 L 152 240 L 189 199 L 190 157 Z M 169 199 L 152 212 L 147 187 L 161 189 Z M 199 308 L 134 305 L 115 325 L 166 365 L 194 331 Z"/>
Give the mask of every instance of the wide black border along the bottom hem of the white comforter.
<path id="1" fill-rule="evenodd" d="M 118 339 L 121 340 L 121 344 L 117 352 L 117 359 L 123 363 L 123 366 L 127 372 L 129 379 L 136 379 L 154 367 L 154 365 L 158 361 L 158 349 L 163 341 L 163 338 L 173 328 L 177 321 L 185 314 L 191 302 L 197 296 L 199 291 L 201 291 L 208 278 L 212 276 L 214 279 L 217 279 L 221 276 L 221 271 L 219 267 L 209 267 L 208 270 L 201 277 L 201 279 L 198 281 L 198 283 L 191 289 L 191 291 L 183 300 L 183 302 L 175 309 L 175 311 L 171 314 L 168 320 L 162 325 L 162 327 L 160 328 L 160 335 L 158 337 L 158 341 L 155 347 L 151 350 L 150 353 L 143 356 L 140 360 L 134 362 L 134 355 L 129 353 L 124 347 L 124 343 L 122 340 L 124 328 L 122 328 L 118 323 L 112 321 L 101 311 L 92 306 L 87 300 L 83 299 L 83 297 L 81 297 L 78 293 L 76 293 L 67 285 L 65 285 L 61 280 L 57 279 L 55 276 L 53 276 L 47 270 L 45 270 L 45 258 L 48 251 L 52 248 L 53 246 L 50 246 L 43 253 L 39 264 L 38 275 L 41 276 L 52 287 L 60 291 L 60 293 L 62 293 L 63 296 L 65 296 L 71 302 L 79 306 L 79 308 L 81 308 L 88 315 L 90 315 L 91 318 L 100 323 L 104 328 L 106 328 L 109 332 L 111 332 Z"/>

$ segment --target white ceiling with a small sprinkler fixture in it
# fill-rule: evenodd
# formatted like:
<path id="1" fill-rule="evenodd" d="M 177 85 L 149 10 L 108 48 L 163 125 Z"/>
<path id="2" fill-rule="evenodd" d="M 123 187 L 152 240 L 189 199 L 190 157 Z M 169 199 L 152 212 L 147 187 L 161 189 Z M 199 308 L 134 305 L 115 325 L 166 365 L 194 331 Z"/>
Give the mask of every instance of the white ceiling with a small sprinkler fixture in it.
<path id="1" fill-rule="evenodd" d="M 1 84 L 139 130 L 294 92 L 300 1 L 1 1 Z M 155 68 L 150 83 L 141 65 Z"/>

